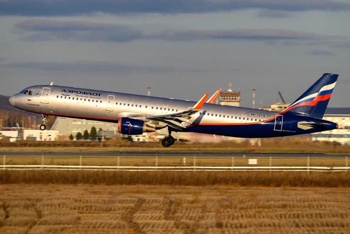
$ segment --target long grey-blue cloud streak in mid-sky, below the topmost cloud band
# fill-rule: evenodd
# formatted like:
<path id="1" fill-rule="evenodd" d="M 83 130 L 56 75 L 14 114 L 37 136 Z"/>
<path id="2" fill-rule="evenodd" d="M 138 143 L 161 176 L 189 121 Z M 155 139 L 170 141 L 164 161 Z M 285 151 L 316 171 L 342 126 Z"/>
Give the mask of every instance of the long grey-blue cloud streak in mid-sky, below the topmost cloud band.
<path id="1" fill-rule="evenodd" d="M 197 41 L 197 40 L 314 40 L 320 36 L 291 30 L 235 29 L 160 31 L 145 34 L 128 25 L 103 24 L 86 21 L 25 20 L 15 25 L 27 41 L 103 41 L 133 40 Z"/>

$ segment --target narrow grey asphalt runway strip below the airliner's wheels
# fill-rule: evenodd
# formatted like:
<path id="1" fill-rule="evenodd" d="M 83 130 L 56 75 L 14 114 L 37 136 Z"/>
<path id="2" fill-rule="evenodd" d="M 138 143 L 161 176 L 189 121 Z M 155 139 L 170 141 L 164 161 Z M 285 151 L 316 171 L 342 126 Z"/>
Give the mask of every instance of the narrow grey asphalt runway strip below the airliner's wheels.
<path id="1" fill-rule="evenodd" d="M 88 152 L 88 153 L 3 153 L 0 156 L 53 156 L 53 157 L 71 157 L 71 156 L 94 156 L 94 157 L 283 157 L 283 158 L 345 158 L 348 154 L 307 154 L 307 153 L 159 153 L 159 152 Z"/>

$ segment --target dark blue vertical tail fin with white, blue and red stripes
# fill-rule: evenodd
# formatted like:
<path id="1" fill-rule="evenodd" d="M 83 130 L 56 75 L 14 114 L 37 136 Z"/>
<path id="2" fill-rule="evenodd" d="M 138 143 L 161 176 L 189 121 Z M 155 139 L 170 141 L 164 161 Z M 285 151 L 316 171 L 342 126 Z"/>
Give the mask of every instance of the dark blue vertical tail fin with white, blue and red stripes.
<path id="1" fill-rule="evenodd" d="M 323 118 L 338 75 L 325 73 L 281 114 L 308 115 Z"/>

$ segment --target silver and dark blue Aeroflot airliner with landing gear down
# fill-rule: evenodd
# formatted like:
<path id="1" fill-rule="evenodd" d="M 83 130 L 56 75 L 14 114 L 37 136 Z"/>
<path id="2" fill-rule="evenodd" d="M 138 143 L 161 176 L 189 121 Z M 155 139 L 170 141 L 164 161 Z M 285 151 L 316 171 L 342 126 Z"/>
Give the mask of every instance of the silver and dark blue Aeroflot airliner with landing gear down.
<path id="1" fill-rule="evenodd" d="M 174 143 L 171 132 L 197 132 L 244 138 L 278 137 L 327 131 L 337 124 L 322 120 L 338 75 L 323 74 L 305 93 L 281 112 L 214 104 L 218 90 L 206 103 L 141 96 L 57 85 L 36 85 L 11 96 L 21 110 L 49 115 L 118 123 L 118 132 L 139 135 L 167 128 L 161 141 Z"/>

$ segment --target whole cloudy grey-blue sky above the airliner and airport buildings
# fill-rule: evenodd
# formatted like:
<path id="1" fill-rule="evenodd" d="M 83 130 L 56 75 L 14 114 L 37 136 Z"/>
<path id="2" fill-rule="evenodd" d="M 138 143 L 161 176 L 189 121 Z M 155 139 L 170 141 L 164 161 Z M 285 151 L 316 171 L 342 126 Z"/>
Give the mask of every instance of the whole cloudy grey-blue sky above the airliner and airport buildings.
<path id="1" fill-rule="evenodd" d="M 0 94 L 37 84 L 241 106 L 293 102 L 339 74 L 349 107 L 350 0 L 0 0 Z"/>

